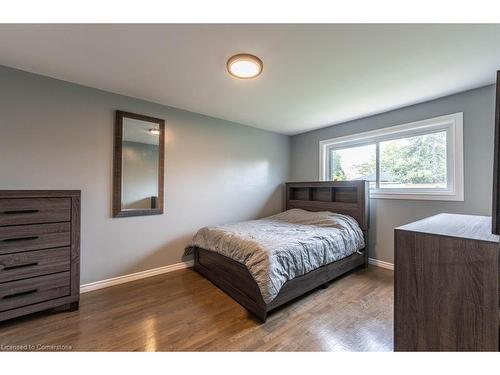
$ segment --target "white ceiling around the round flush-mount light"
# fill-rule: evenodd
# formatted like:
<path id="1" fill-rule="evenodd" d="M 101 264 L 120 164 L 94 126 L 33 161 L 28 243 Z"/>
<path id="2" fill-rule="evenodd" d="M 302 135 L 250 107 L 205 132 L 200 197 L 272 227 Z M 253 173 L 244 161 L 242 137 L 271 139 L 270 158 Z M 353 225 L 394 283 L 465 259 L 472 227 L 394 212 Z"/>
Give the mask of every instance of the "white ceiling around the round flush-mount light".
<path id="1" fill-rule="evenodd" d="M 494 24 L 0 25 L 1 65 L 284 134 L 491 84 L 499 46 Z M 259 78 L 227 74 L 240 52 Z"/>

